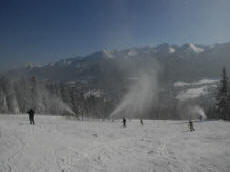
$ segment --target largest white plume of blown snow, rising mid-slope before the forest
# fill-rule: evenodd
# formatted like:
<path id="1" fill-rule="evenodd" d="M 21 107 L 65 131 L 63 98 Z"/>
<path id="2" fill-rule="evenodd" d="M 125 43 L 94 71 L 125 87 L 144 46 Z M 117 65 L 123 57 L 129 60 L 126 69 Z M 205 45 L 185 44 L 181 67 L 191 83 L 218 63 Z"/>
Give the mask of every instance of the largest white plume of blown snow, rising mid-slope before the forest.
<path id="1" fill-rule="evenodd" d="M 148 66 L 148 65 L 147 65 Z M 120 104 L 111 113 L 111 118 L 137 118 L 148 112 L 153 103 L 158 100 L 158 65 L 143 66 L 134 83 Z"/>

